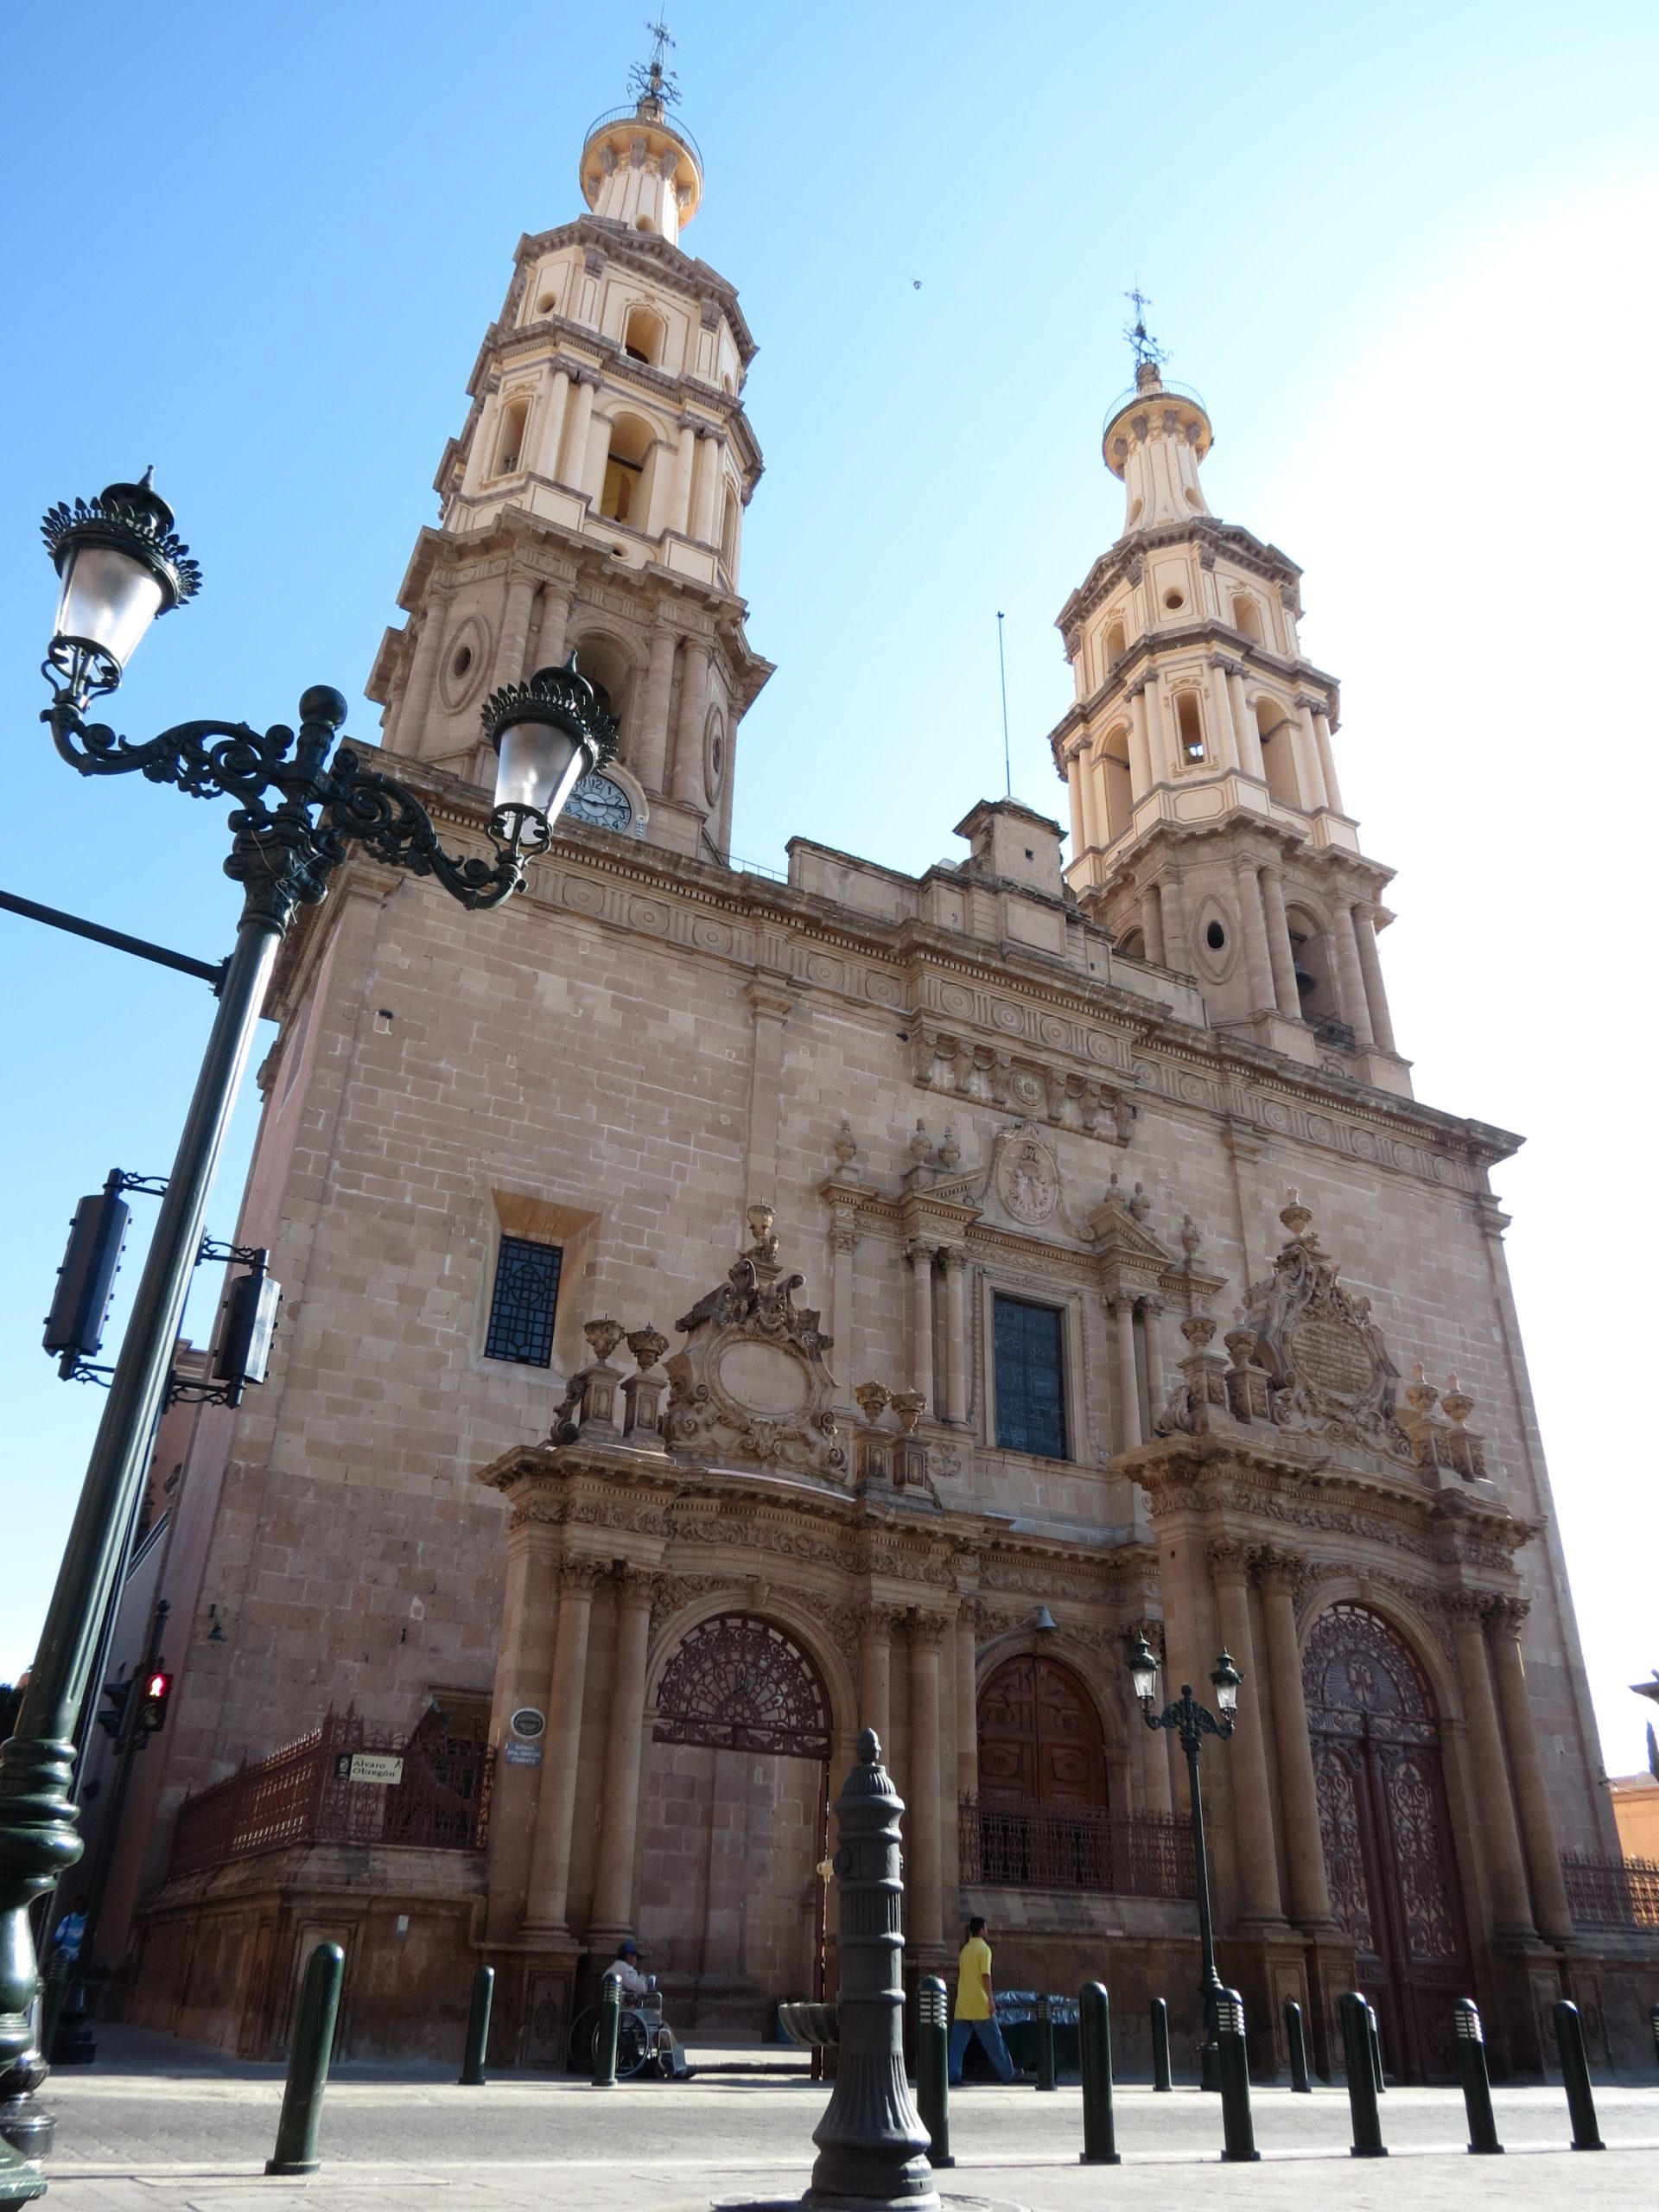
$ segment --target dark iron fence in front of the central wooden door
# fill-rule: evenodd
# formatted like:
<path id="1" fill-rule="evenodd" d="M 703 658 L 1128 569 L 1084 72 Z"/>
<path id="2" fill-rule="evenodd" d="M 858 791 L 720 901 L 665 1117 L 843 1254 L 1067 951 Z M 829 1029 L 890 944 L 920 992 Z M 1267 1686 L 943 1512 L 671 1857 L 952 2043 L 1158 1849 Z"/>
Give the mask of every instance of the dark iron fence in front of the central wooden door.
<path id="1" fill-rule="evenodd" d="M 1093 1805 L 960 1803 L 962 1880 L 993 1889 L 1091 1889 L 1194 1898 L 1192 1827 L 1177 1814 Z"/>

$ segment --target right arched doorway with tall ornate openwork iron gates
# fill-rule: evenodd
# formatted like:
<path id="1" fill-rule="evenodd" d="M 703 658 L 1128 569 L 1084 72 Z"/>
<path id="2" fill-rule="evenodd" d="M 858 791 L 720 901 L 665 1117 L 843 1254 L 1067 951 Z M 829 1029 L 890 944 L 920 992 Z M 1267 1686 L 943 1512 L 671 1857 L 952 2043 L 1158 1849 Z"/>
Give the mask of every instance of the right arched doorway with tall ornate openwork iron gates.
<path id="1" fill-rule="evenodd" d="M 1433 1692 L 1407 1644 L 1365 1606 L 1332 1606 L 1314 1621 L 1303 1692 L 1332 1911 L 1354 1940 L 1385 2057 L 1405 2081 L 1451 2079 L 1469 1936 Z"/>

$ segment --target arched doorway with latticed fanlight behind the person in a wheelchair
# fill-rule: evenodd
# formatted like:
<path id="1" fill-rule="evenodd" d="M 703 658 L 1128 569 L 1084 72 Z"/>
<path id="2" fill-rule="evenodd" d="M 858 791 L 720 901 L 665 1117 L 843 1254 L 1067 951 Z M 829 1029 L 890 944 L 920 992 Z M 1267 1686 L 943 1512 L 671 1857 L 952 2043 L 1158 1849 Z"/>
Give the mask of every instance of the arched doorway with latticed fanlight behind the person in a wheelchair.
<path id="1" fill-rule="evenodd" d="M 830 1697 L 774 1621 L 721 1613 L 657 1686 L 639 1940 L 697 2026 L 761 2028 L 818 1995 Z"/>

